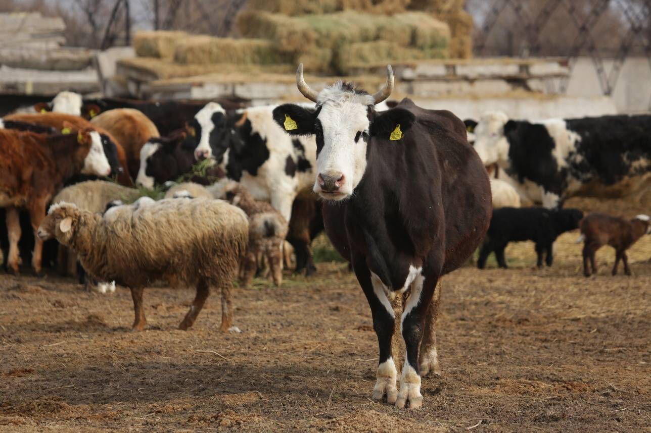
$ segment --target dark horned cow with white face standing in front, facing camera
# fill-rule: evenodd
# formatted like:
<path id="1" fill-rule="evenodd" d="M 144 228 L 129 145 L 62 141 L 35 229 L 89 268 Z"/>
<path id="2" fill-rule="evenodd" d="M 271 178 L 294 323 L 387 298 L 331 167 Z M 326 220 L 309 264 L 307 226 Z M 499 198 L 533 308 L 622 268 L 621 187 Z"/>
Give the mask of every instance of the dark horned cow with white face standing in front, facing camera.
<path id="1" fill-rule="evenodd" d="M 391 94 L 391 66 L 386 85 L 374 95 L 340 81 L 316 92 L 305 83 L 302 64 L 296 81 L 316 107 L 281 105 L 273 118 L 281 126 L 296 122 L 296 129 L 289 123 L 291 135 L 316 137 L 312 179 L 325 200 L 326 233 L 352 262 L 378 335 L 373 397 L 419 408 L 419 373 L 441 372 L 434 334 L 439 278 L 460 267 L 488 229 L 488 175 L 463 122 L 451 112 L 421 109 L 410 99 L 374 110 Z M 400 391 L 391 354 L 396 296 L 406 296 Z"/>

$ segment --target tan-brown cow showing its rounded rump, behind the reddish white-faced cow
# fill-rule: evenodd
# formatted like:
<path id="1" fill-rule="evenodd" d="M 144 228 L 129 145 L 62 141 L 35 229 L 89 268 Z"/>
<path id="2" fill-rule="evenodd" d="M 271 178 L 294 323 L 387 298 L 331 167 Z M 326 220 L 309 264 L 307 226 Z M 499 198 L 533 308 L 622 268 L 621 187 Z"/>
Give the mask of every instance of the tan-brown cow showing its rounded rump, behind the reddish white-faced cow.
<path id="1" fill-rule="evenodd" d="M 109 131 L 117 138 L 126 153 L 129 174 L 132 179 L 140 169 L 140 150 L 150 138 L 160 137 L 156 125 L 141 111 L 114 109 L 95 116 L 90 123 Z"/>

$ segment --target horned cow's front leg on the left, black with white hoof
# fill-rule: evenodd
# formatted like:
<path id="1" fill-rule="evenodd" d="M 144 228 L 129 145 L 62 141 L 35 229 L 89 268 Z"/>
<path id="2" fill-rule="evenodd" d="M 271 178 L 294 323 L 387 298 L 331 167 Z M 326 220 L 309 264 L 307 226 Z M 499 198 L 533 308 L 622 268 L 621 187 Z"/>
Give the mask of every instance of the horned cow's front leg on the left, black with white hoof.
<path id="1" fill-rule="evenodd" d="M 381 400 L 386 395 L 387 402 L 395 403 L 398 397 L 396 378 L 398 372 L 391 352 L 391 337 L 395 324 L 395 315 L 387 297 L 385 286 L 376 275 L 372 275 L 363 259 L 353 264 L 357 280 L 364 291 L 373 317 L 373 328 L 378 335 L 380 358 L 373 399 Z"/>

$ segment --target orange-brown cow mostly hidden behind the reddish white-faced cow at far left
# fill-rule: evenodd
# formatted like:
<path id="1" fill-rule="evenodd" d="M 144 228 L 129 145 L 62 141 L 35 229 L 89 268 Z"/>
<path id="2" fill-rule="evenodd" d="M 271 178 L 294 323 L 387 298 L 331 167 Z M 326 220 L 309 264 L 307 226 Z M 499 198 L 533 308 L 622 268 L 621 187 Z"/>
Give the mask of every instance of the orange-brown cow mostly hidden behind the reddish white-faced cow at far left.
<path id="1" fill-rule="evenodd" d="M 98 131 L 100 135 L 104 135 L 113 144 L 115 144 L 115 150 L 117 151 L 117 159 L 122 166 L 122 173 L 118 174 L 117 180 L 120 185 L 126 187 L 133 187 L 133 181 L 129 176 L 129 169 L 127 164 L 127 157 L 122 146 L 122 143 L 116 139 L 109 131 L 101 127 L 100 125 L 93 125 L 88 120 L 81 118 L 79 116 L 74 116 L 72 114 L 64 114 L 61 112 L 43 112 L 43 113 L 16 113 L 9 114 L 5 116 L 3 120 L 16 121 L 16 122 L 25 122 L 35 125 L 44 125 L 49 126 L 61 131 L 63 129 L 63 122 L 68 122 L 72 124 L 76 129 L 93 129 Z M 135 177 L 134 177 L 135 178 Z"/>

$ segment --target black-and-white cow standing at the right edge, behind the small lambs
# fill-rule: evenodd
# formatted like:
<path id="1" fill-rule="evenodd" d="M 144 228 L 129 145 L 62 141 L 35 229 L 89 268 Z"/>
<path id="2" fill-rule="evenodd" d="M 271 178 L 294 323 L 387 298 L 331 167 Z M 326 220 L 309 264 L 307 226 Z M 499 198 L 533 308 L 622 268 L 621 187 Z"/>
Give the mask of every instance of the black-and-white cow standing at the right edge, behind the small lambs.
<path id="1" fill-rule="evenodd" d="M 494 163 L 523 198 L 553 208 L 590 188 L 610 187 L 651 172 L 651 116 L 509 120 L 484 114 L 475 127 L 475 150 Z"/>

